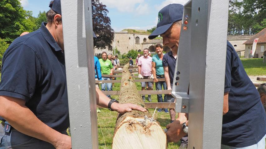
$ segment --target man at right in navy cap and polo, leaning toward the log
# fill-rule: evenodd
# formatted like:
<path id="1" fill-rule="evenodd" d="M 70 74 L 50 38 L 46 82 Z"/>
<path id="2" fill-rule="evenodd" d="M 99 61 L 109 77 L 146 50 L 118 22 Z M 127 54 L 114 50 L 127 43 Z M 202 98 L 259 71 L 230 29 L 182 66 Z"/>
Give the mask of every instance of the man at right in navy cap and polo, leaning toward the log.
<path id="1" fill-rule="evenodd" d="M 173 82 L 171 73 L 174 73 L 182 16 L 182 5 L 170 4 L 164 7 L 159 11 L 157 29 L 149 36 L 153 39 L 160 35 L 163 37 L 163 44 L 171 48 L 171 51 L 163 57 L 168 89 Z M 226 50 L 221 148 L 264 149 L 266 113 L 259 93 L 246 74 L 234 47 L 228 41 Z M 169 78 L 166 78 L 167 73 Z M 178 114 L 178 118 L 166 128 L 168 141 L 177 142 L 188 134 L 187 117 Z"/>

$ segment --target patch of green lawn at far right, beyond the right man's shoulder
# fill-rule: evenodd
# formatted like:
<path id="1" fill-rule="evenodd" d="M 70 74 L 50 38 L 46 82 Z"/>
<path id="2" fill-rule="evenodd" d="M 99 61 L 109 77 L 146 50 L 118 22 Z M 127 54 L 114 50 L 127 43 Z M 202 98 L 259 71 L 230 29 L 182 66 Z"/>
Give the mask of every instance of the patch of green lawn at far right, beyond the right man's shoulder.
<path id="1" fill-rule="evenodd" d="M 248 75 L 266 75 L 266 63 L 262 58 L 243 58 L 241 61 Z"/>

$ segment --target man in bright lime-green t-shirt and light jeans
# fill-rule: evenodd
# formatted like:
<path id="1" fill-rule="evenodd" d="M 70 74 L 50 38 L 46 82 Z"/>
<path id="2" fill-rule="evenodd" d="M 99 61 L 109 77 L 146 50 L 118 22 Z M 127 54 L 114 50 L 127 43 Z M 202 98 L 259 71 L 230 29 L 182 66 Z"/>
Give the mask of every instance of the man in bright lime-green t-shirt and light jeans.
<path id="1" fill-rule="evenodd" d="M 112 62 L 107 59 L 107 53 L 102 52 L 102 58 L 99 59 L 101 65 L 101 73 L 103 75 L 112 75 L 113 74 L 113 65 Z M 111 77 L 102 77 L 102 80 L 112 80 Z M 112 91 L 112 83 L 103 83 L 102 91 Z M 107 95 L 107 97 L 111 98 L 111 95 Z"/>

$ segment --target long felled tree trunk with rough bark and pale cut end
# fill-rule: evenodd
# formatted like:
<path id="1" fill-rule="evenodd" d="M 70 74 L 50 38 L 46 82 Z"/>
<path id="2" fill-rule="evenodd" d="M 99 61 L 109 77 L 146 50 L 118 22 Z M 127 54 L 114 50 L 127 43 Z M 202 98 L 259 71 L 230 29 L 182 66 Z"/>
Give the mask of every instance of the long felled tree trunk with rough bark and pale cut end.
<path id="1" fill-rule="evenodd" d="M 122 71 L 119 103 L 133 103 L 145 107 L 128 67 L 129 64 L 126 64 Z M 119 114 L 116 120 L 112 148 L 166 149 L 167 138 L 164 130 L 159 122 L 149 119 L 152 119 L 149 111 L 132 110 L 132 112 L 123 115 Z"/>

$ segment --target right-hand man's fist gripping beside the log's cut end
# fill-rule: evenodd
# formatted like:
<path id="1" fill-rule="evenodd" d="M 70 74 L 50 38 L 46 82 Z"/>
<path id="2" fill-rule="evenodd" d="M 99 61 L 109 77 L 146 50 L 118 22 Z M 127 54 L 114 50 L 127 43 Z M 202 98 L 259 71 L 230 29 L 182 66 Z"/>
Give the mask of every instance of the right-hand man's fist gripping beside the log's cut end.
<path id="1" fill-rule="evenodd" d="M 183 136 L 186 135 L 184 133 L 182 124 L 184 122 L 180 122 L 180 120 L 176 119 L 173 123 L 166 125 L 166 132 L 168 142 L 178 142 Z"/>

